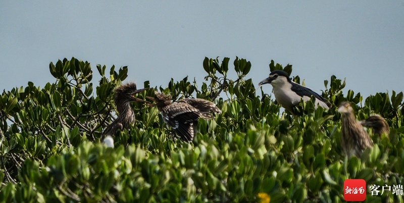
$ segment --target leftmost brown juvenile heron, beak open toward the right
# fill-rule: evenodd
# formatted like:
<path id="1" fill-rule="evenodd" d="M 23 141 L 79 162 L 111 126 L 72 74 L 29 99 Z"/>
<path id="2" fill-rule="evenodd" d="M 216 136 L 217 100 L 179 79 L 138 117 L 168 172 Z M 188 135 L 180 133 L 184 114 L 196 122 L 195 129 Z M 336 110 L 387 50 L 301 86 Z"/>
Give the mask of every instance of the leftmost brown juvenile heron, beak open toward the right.
<path id="1" fill-rule="evenodd" d="M 118 130 L 128 129 L 135 121 L 135 113 L 130 107 L 131 102 L 144 102 L 145 100 L 135 97 L 135 94 L 149 88 L 137 89 L 136 83 L 129 82 L 122 84 L 114 89 L 114 104 L 118 111 L 118 117 L 104 130 L 103 136 L 114 135 Z"/>

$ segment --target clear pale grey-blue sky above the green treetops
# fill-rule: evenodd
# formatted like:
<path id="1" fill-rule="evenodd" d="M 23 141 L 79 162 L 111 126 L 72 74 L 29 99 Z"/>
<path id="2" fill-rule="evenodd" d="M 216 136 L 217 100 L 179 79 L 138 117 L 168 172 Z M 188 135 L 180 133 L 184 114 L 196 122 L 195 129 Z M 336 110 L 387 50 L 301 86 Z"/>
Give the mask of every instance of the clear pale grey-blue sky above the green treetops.
<path id="1" fill-rule="evenodd" d="M 365 98 L 404 91 L 404 0 L 0 3 L 0 90 L 54 82 L 49 63 L 72 57 L 91 63 L 94 85 L 96 64 L 128 66 L 139 87 L 200 84 L 205 57 L 236 56 L 256 87 L 274 60 L 317 92 L 331 75 Z"/>

